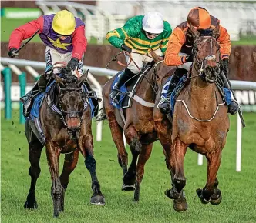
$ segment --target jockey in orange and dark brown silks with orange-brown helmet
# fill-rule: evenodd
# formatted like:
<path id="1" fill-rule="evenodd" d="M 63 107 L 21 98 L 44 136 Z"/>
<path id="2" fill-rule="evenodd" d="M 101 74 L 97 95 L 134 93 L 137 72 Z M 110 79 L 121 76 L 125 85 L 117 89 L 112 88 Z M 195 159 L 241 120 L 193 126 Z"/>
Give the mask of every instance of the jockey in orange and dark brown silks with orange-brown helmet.
<path id="1" fill-rule="evenodd" d="M 173 92 L 180 78 L 187 73 L 193 62 L 192 48 L 194 45 L 194 38 L 190 25 L 193 25 L 198 32 L 204 33 L 218 28 L 216 39 L 221 45 L 221 60 L 224 65 L 223 73 L 225 79 L 228 78 L 228 62 L 231 54 L 231 40 L 227 33 L 227 29 L 219 25 L 220 21 L 214 16 L 210 15 L 205 8 L 192 8 L 187 16 L 187 21 L 180 23 L 173 30 L 170 36 L 167 52 L 164 58 L 166 65 L 177 66 L 176 71 L 170 79 L 170 85 L 167 91 L 167 98 L 162 98 L 159 104 L 160 111 L 163 113 L 170 112 L 170 94 Z M 221 74 L 223 75 L 223 74 Z M 230 90 L 227 82 L 224 82 L 224 88 Z M 234 115 L 239 110 L 239 105 L 234 100 L 227 105 L 228 112 Z"/>

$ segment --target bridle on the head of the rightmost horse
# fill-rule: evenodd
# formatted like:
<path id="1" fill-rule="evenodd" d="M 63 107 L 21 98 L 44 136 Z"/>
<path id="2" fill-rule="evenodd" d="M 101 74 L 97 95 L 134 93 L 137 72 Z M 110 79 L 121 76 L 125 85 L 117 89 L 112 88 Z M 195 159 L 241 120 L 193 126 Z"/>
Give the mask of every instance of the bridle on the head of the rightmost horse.
<path id="1" fill-rule="evenodd" d="M 211 41 L 210 55 L 207 55 L 202 60 L 200 60 L 200 58 L 197 57 L 198 44 L 201 41 L 204 41 L 204 42 Z M 207 61 L 216 62 L 216 64 L 217 64 L 217 74 L 220 75 L 220 73 L 221 73 L 220 72 L 221 71 L 221 59 L 219 59 L 219 62 L 217 62 L 216 55 L 213 54 L 213 42 L 215 42 L 217 44 L 217 52 L 219 52 L 220 51 L 220 45 L 217 43 L 216 38 L 214 38 L 212 36 L 200 36 L 200 37 L 197 37 L 194 40 L 194 46 L 192 48 L 192 54 L 193 54 L 193 57 L 196 60 L 196 62 L 194 62 L 194 65 L 195 65 L 195 67 L 197 67 L 196 70 L 198 72 L 198 75 L 194 75 L 194 76 L 189 77 L 188 73 L 187 73 L 187 78 L 196 78 L 196 77 L 202 78 L 204 69 L 206 68 L 206 65 L 207 65 Z M 217 78 L 216 78 L 216 80 L 211 80 L 209 75 L 207 75 L 207 72 L 204 72 L 204 75 L 205 75 L 205 79 L 208 80 L 209 82 L 216 82 L 217 81 Z"/>

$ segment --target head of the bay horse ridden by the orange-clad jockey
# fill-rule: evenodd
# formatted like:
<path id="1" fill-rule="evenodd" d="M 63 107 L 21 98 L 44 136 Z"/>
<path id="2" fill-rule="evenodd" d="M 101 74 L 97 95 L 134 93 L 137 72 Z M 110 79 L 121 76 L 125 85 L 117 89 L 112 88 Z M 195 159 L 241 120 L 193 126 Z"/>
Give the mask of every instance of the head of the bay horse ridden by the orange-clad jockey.
<path id="1" fill-rule="evenodd" d="M 194 31 L 194 34 L 194 69 L 205 82 L 214 83 L 221 72 L 220 46 L 213 37 L 214 31 Z"/>

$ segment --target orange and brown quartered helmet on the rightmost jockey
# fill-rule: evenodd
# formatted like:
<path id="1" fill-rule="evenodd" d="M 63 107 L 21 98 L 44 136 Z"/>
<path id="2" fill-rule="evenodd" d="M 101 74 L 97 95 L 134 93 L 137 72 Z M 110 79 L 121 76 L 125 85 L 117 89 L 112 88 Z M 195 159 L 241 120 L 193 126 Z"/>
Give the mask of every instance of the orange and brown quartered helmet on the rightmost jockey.
<path id="1" fill-rule="evenodd" d="M 193 25 L 196 29 L 211 27 L 211 15 L 205 8 L 195 7 L 187 15 L 187 25 Z"/>

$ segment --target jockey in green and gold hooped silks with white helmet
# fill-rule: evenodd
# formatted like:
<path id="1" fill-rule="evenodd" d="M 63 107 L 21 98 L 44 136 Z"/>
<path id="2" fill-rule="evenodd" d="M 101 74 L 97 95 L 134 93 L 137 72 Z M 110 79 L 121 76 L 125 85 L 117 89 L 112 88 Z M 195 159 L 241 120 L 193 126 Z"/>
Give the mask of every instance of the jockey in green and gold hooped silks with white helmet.
<path id="1" fill-rule="evenodd" d="M 151 50 L 159 56 L 164 55 L 171 32 L 170 24 L 163 21 L 163 15 L 160 12 L 147 12 L 146 15 L 130 18 L 122 28 L 116 28 L 108 32 L 106 39 L 116 48 L 129 52 L 133 61 L 141 70 L 143 62 L 153 61 L 153 58 L 147 56 L 150 55 Z M 126 55 L 126 61 L 130 61 L 128 55 Z M 136 65 L 130 62 L 123 71 L 113 88 L 113 92 L 110 94 L 111 99 L 115 99 L 119 95 L 119 88 L 128 79 L 140 72 Z"/>

